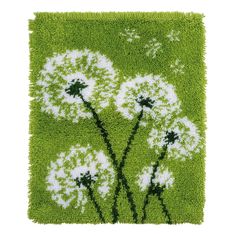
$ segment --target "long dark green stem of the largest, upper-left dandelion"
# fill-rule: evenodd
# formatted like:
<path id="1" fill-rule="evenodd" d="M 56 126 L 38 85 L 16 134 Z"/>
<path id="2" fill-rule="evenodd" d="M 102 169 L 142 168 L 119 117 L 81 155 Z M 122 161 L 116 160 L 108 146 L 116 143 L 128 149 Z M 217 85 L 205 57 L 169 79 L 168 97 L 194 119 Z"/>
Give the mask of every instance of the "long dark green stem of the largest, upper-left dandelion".
<path id="1" fill-rule="evenodd" d="M 127 195 L 127 199 L 128 199 L 128 202 L 130 204 L 130 210 L 133 212 L 133 217 L 134 217 L 134 221 L 137 222 L 138 220 L 138 215 L 137 215 L 137 212 L 136 212 L 136 206 L 135 206 L 135 203 L 134 203 L 134 199 L 133 199 L 133 193 L 130 191 L 130 187 L 129 187 L 129 184 L 128 184 L 128 181 L 125 177 L 125 175 L 122 173 L 122 168 L 121 168 L 121 171 L 119 171 L 119 163 L 116 159 L 116 154 L 115 152 L 113 151 L 113 148 L 112 148 L 112 145 L 111 145 L 111 142 L 109 140 L 109 135 L 108 135 L 108 132 L 107 130 L 104 128 L 104 123 L 100 120 L 98 114 L 96 113 L 95 109 L 92 107 L 91 103 L 86 101 L 83 97 L 83 95 L 81 93 L 78 93 L 78 96 L 81 98 L 81 100 L 83 101 L 85 107 L 92 113 L 93 115 L 93 118 L 95 120 L 95 123 L 96 123 L 96 126 L 98 127 L 98 129 L 100 130 L 101 132 L 101 136 L 103 137 L 103 140 L 104 140 L 104 143 L 106 144 L 107 146 L 107 150 L 109 152 L 109 155 L 112 159 L 112 163 L 117 171 L 117 177 L 118 177 L 118 184 L 119 186 L 122 184 L 125 191 L 126 191 L 126 195 Z M 135 133 L 134 133 L 135 134 Z M 132 140 L 131 140 L 132 142 Z M 131 143 L 130 143 L 131 144 Z M 129 151 L 129 150 L 128 150 Z M 121 182 L 120 182 L 121 181 Z M 119 183 L 120 182 L 120 183 Z M 119 187 L 120 188 L 120 187 Z M 118 216 L 118 211 L 116 211 L 117 209 L 117 200 L 115 201 L 115 205 L 116 205 L 116 208 L 114 208 L 115 212 L 114 214 L 117 214 Z M 114 215 L 113 214 L 113 215 Z M 118 218 L 117 218 L 118 219 Z M 113 220 L 113 222 L 117 222 L 117 219 L 116 220 Z"/>

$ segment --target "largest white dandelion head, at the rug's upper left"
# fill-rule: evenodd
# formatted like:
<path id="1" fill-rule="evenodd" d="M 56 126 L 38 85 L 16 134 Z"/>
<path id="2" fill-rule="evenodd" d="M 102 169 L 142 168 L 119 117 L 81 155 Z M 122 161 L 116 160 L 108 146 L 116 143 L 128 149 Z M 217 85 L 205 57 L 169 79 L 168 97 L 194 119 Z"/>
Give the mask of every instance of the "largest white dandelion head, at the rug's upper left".
<path id="1" fill-rule="evenodd" d="M 47 59 L 37 81 L 36 99 L 43 112 L 78 122 L 92 116 L 81 95 L 100 112 L 109 105 L 115 86 L 116 71 L 107 57 L 88 49 L 66 51 Z"/>

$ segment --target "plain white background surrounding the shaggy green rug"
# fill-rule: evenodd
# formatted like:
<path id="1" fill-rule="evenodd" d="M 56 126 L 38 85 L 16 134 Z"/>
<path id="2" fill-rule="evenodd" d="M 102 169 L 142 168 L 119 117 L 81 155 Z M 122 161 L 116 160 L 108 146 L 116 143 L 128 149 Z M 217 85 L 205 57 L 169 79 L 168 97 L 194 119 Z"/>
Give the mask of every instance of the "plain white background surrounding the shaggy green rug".
<path id="1" fill-rule="evenodd" d="M 1 235 L 236 235 L 236 7 L 232 0 L 8 0 L 0 6 Z M 184 225 L 39 225 L 27 219 L 28 19 L 36 11 L 185 11 L 205 14 L 205 222 Z"/>

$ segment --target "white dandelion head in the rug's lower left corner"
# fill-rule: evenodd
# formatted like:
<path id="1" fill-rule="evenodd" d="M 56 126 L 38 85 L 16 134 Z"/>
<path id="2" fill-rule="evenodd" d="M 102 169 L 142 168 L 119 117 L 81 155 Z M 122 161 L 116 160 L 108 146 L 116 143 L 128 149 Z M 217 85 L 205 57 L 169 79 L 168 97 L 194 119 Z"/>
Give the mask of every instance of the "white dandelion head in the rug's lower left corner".
<path id="1" fill-rule="evenodd" d="M 90 185 L 105 199 L 114 182 L 114 170 L 108 157 L 89 145 L 82 147 L 77 144 L 68 152 L 58 154 L 48 171 L 46 184 L 52 199 L 63 208 L 69 205 L 81 207 L 81 212 L 88 202 Z"/>

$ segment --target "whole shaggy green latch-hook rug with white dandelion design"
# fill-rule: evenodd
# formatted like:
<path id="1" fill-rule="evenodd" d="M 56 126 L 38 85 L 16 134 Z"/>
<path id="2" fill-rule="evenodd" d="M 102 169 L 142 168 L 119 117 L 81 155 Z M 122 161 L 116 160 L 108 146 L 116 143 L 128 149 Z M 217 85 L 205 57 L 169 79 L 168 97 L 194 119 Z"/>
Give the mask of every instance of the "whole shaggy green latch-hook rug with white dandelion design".
<path id="1" fill-rule="evenodd" d="M 202 18 L 37 13 L 30 21 L 30 219 L 203 221 Z"/>

